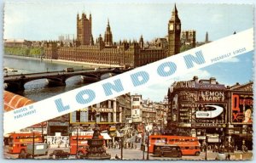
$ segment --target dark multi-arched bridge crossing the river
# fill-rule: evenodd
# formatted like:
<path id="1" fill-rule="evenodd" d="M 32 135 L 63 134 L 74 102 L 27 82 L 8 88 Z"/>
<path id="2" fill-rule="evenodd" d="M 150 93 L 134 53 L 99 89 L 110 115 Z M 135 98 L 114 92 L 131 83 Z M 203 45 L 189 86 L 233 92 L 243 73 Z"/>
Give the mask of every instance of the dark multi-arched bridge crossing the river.
<path id="1" fill-rule="evenodd" d="M 49 87 L 65 86 L 68 78 L 73 76 L 81 76 L 83 82 L 92 83 L 102 80 L 102 76 L 115 76 L 131 69 L 119 68 L 100 68 L 100 69 L 86 69 L 86 70 L 61 70 L 61 71 L 47 71 L 31 74 L 19 74 L 12 76 L 3 76 L 5 90 L 10 92 L 17 92 L 24 90 L 24 85 L 27 82 L 32 82 L 38 79 L 46 79 Z"/>

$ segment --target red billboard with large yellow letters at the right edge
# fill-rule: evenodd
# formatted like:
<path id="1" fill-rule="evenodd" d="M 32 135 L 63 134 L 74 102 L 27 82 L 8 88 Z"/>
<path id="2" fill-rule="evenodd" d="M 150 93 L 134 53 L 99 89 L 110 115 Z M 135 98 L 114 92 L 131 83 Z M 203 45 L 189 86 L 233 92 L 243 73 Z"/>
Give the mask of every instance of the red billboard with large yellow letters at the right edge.
<path id="1" fill-rule="evenodd" d="M 231 107 L 232 123 L 253 123 L 253 95 L 233 93 Z"/>

